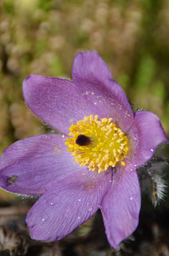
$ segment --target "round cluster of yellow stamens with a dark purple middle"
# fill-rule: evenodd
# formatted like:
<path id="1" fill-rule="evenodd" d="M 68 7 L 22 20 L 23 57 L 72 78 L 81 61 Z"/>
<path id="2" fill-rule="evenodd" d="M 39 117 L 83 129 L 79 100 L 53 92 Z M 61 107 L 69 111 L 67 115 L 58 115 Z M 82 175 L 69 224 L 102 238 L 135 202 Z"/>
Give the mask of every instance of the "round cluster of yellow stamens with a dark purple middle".
<path id="1" fill-rule="evenodd" d="M 127 136 L 112 123 L 112 118 L 101 118 L 98 115 L 85 116 L 76 125 L 69 128 L 65 145 L 72 152 L 75 162 L 81 167 L 88 166 L 93 172 L 103 172 L 117 162 L 125 166 L 124 156 L 128 152 Z"/>

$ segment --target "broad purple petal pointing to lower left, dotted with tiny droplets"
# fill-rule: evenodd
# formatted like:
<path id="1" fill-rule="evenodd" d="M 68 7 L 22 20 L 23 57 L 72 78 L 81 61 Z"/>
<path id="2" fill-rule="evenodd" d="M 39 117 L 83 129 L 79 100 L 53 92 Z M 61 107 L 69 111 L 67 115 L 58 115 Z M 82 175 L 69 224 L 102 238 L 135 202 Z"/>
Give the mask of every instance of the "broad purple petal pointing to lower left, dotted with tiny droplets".
<path id="1" fill-rule="evenodd" d="M 31 237 L 55 241 L 87 221 L 109 190 L 111 172 L 78 172 L 56 182 L 27 214 Z"/>

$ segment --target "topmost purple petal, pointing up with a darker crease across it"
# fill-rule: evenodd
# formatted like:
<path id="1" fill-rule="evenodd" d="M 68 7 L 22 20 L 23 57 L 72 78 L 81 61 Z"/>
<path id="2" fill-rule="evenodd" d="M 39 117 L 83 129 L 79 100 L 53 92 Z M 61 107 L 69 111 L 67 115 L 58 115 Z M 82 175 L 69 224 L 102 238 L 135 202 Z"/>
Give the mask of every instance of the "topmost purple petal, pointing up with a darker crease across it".
<path id="1" fill-rule="evenodd" d="M 73 81 L 93 111 L 101 118 L 112 117 L 125 132 L 133 122 L 133 112 L 122 87 L 112 79 L 106 63 L 96 53 L 78 53 L 72 70 Z"/>

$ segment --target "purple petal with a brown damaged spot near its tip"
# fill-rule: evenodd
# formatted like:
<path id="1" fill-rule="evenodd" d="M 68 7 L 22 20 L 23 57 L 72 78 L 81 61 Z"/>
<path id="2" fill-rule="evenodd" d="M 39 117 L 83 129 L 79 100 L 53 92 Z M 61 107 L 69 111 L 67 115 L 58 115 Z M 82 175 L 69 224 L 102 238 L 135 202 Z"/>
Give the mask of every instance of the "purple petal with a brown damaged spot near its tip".
<path id="1" fill-rule="evenodd" d="M 0 185 L 14 193 L 40 195 L 53 180 L 81 171 L 65 138 L 48 134 L 17 141 L 1 155 Z"/>

